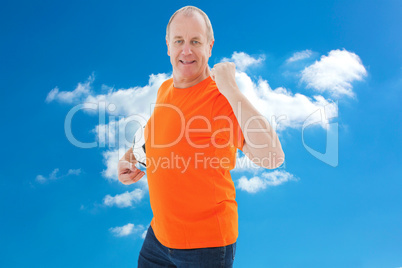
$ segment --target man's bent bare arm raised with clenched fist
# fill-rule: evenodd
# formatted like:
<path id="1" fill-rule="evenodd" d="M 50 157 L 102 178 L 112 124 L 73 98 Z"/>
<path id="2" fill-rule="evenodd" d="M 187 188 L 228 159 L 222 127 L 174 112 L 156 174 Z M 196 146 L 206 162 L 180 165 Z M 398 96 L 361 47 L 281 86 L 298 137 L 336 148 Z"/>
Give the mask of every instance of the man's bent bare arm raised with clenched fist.
<path id="1" fill-rule="evenodd" d="M 232 106 L 245 138 L 242 151 L 255 164 L 269 169 L 282 165 L 285 154 L 278 135 L 236 84 L 234 63 L 219 63 L 211 69 L 211 78 Z M 240 103 L 240 108 L 238 108 Z"/>

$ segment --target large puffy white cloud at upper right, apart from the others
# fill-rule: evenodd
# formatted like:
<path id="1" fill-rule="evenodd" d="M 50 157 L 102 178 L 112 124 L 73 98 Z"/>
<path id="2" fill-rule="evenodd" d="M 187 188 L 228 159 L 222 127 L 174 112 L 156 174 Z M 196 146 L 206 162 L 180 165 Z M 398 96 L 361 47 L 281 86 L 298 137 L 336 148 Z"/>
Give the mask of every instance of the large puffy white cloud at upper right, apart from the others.
<path id="1" fill-rule="evenodd" d="M 359 56 L 347 50 L 332 50 L 328 56 L 306 67 L 301 81 L 318 92 L 329 92 L 334 97 L 353 97 L 352 82 L 367 76 Z"/>

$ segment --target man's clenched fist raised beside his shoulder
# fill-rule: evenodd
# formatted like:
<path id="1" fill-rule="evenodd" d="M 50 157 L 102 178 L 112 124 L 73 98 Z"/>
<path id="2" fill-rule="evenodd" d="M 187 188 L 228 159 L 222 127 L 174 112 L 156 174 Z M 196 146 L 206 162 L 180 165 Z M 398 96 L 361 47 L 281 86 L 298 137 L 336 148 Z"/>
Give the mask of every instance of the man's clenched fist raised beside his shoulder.
<path id="1" fill-rule="evenodd" d="M 239 93 L 236 84 L 236 65 L 233 62 L 221 62 L 211 69 L 211 78 L 215 81 L 219 91 L 227 99 L 235 93 Z"/>

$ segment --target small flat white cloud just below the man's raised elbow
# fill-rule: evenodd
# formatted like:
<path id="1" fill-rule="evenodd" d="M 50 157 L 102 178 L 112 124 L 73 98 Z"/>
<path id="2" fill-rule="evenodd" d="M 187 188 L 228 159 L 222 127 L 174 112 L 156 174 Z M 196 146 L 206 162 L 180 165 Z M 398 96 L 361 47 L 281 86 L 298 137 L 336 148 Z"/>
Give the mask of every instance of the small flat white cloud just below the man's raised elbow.
<path id="1" fill-rule="evenodd" d="M 297 181 L 298 178 L 286 171 L 274 170 L 273 172 L 263 172 L 260 176 L 254 176 L 250 179 L 242 176 L 237 180 L 237 188 L 254 194 L 268 186 L 278 186 L 290 180 Z"/>

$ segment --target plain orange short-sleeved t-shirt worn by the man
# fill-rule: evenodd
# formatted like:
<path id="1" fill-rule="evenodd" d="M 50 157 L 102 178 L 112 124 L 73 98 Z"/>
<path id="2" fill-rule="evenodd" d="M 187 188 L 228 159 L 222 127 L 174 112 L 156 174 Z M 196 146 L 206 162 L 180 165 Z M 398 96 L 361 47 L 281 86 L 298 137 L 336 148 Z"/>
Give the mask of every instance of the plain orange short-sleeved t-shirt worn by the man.
<path id="1" fill-rule="evenodd" d="M 211 77 L 183 89 L 166 80 L 144 133 L 156 238 L 176 249 L 236 242 L 236 191 L 229 171 L 244 137 Z"/>

